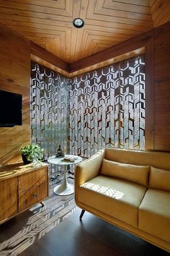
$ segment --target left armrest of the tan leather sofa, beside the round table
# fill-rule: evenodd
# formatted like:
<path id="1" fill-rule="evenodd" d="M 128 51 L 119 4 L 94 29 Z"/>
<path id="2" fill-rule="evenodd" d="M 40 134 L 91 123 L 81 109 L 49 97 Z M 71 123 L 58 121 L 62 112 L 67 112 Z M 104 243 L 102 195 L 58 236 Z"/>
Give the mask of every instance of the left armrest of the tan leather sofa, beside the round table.
<path id="1" fill-rule="evenodd" d="M 99 175 L 104 158 L 104 151 L 105 150 L 99 150 L 95 155 L 91 156 L 91 158 L 76 166 L 74 171 L 75 198 L 77 198 L 76 195 L 81 184 Z"/>

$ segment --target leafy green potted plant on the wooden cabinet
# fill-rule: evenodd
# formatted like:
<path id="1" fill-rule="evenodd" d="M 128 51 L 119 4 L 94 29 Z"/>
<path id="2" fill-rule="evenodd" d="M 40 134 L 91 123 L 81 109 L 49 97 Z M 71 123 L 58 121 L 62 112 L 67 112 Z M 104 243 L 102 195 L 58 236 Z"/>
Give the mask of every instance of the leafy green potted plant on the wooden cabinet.
<path id="1" fill-rule="evenodd" d="M 20 152 L 22 153 L 22 161 L 24 164 L 31 163 L 33 161 L 40 163 L 44 156 L 44 149 L 33 143 L 22 147 Z"/>

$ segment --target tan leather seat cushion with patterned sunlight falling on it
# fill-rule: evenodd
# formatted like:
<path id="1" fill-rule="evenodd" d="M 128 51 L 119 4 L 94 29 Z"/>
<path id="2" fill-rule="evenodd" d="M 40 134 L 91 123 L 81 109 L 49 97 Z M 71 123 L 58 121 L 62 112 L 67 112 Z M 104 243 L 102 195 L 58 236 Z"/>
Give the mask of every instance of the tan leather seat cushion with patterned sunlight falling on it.
<path id="1" fill-rule="evenodd" d="M 78 201 L 138 227 L 138 208 L 146 187 L 99 175 L 79 187 Z"/>

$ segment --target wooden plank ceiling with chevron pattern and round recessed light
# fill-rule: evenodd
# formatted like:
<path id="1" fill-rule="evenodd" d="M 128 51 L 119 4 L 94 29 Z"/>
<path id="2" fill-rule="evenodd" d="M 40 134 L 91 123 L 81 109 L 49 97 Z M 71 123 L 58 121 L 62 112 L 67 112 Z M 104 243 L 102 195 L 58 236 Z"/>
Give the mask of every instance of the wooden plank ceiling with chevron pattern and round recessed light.
<path id="1" fill-rule="evenodd" d="M 165 9 L 170 1 L 0 0 L 0 22 L 73 63 L 150 30 L 152 14 L 159 25 L 161 2 Z M 76 17 L 85 22 L 81 29 L 72 25 Z"/>

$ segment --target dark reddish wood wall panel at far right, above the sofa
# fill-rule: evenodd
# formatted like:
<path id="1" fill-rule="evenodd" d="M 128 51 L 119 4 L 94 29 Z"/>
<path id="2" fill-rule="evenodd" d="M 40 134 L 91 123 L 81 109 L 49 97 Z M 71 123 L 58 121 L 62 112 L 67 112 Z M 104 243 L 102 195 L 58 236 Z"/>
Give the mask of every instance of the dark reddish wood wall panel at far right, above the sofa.
<path id="1" fill-rule="evenodd" d="M 170 22 L 155 30 L 155 150 L 170 151 Z"/>

